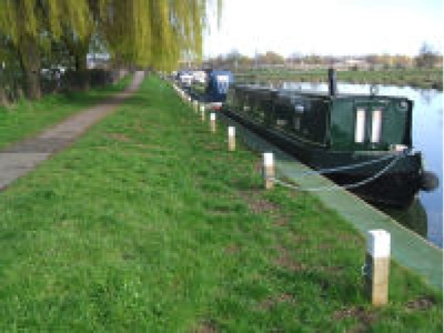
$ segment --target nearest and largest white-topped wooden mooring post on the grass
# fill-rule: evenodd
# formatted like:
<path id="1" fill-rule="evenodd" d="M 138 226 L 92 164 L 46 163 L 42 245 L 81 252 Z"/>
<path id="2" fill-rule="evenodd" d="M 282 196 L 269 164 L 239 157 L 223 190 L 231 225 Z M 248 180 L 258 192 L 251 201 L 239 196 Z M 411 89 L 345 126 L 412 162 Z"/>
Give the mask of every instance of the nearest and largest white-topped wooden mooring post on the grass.
<path id="1" fill-rule="evenodd" d="M 389 302 L 390 245 L 391 236 L 385 230 L 367 232 L 365 292 L 376 306 Z"/>

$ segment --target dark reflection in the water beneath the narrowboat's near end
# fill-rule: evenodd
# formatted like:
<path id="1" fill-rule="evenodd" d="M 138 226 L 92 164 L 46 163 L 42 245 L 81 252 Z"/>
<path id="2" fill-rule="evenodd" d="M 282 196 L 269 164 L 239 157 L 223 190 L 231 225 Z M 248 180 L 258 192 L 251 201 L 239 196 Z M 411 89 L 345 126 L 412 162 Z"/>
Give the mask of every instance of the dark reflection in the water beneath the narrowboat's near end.
<path id="1" fill-rule="evenodd" d="M 395 209 L 389 206 L 377 206 L 381 211 L 392 216 L 400 224 L 413 230 L 423 238 L 427 238 L 427 213 L 420 200 L 415 199 L 413 203 L 405 209 Z"/>

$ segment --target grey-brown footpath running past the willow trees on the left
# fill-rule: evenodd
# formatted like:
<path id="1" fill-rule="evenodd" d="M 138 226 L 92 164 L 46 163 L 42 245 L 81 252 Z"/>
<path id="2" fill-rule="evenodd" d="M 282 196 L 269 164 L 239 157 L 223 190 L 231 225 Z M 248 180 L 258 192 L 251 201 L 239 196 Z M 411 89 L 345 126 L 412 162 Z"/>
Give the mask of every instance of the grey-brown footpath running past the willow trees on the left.
<path id="1" fill-rule="evenodd" d="M 102 103 L 85 109 L 34 138 L 0 150 L 0 191 L 18 178 L 36 169 L 53 153 L 74 142 L 89 127 L 113 112 L 132 95 L 142 82 L 144 72 L 135 72 L 125 91 L 114 94 Z"/>

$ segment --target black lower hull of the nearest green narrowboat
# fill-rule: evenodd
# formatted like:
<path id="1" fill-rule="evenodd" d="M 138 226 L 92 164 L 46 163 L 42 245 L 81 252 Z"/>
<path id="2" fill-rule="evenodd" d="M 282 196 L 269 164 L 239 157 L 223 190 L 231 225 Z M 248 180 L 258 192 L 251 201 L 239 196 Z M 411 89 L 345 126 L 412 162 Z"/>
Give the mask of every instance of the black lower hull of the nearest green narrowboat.
<path id="1" fill-rule="evenodd" d="M 384 158 L 391 152 L 331 151 L 327 148 L 301 142 L 283 131 L 268 128 L 263 123 L 254 122 L 226 108 L 222 112 L 314 170 L 336 169 L 344 165 L 364 163 L 363 167 L 325 173 L 324 175 L 347 188 L 347 190 L 367 202 L 405 208 L 413 202 L 420 190 L 422 174 L 422 157 L 420 152 L 404 154 L 401 158 L 395 158 L 396 160 L 394 161 L 393 158 Z M 379 162 L 367 164 L 370 161 Z M 391 165 L 389 165 L 390 163 Z M 372 179 L 384 169 L 387 170 L 377 178 Z M 370 179 L 372 180 L 366 182 Z M 365 182 L 365 184 L 353 186 L 361 182 Z"/>

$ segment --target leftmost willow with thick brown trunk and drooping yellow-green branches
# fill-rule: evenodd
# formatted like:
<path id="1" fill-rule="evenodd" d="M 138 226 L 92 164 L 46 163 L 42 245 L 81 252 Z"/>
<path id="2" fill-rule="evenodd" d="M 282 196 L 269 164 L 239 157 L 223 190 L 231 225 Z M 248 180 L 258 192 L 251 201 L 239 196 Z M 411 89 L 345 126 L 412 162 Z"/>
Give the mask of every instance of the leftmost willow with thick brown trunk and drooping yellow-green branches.
<path id="1" fill-rule="evenodd" d="M 68 30 L 84 40 L 90 29 L 88 0 L 2 0 L 0 34 L 11 41 L 26 74 L 28 97 L 39 99 L 42 52 Z"/>

